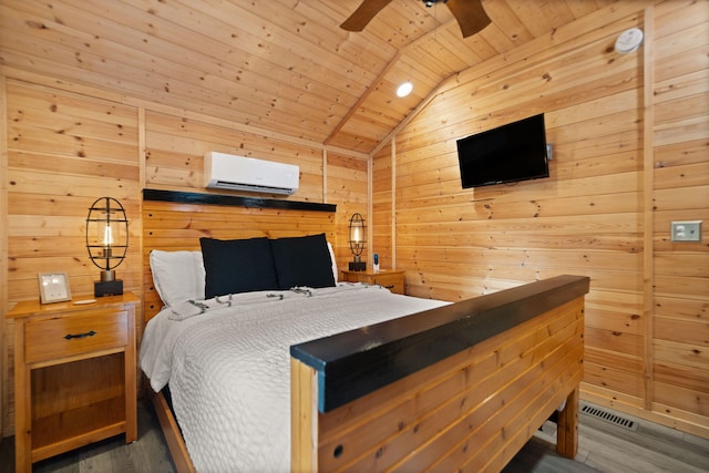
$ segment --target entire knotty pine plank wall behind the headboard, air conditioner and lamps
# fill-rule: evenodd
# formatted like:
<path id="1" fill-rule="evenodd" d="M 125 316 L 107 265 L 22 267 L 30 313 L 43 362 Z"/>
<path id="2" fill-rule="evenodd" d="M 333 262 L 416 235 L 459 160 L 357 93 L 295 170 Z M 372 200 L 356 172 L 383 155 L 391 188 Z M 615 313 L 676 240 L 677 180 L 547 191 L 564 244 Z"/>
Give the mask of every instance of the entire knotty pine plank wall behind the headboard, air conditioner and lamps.
<path id="1" fill-rule="evenodd" d="M 85 218 L 101 196 L 117 198 L 130 225 L 129 255 L 117 269 L 125 290 L 142 294 L 142 189 L 207 192 L 203 155 L 214 150 L 300 166 L 294 200 L 337 205 L 335 251 L 347 265 L 348 224 L 367 214 L 368 162 L 327 152 L 317 143 L 284 140 L 257 128 L 189 114 L 17 70 L 0 76 L 7 91 L 2 148 L 7 150 L 7 271 L 2 280 L 2 433 L 12 434 L 13 302 L 39 297 L 38 273 L 66 271 L 72 294 L 90 294 L 99 268 L 88 258 Z M 249 195 L 230 193 L 234 195 Z M 253 194 L 251 194 L 253 196 Z M 269 196 L 286 198 L 282 196 Z M 3 258 L 4 260 L 4 258 Z M 142 313 L 137 317 L 142 326 Z M 138 327 L 140 337 L 140 327 Z M 140 340 L 140 338 L 138 338 Z"/>

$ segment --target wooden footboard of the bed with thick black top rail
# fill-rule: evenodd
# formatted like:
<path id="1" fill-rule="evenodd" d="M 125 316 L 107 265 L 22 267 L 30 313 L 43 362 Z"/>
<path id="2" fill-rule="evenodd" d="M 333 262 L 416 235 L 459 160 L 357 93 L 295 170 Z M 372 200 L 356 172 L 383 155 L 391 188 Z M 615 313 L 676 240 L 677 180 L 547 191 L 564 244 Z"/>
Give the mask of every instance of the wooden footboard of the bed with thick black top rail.
<path id="1" fill-rule="evenodd" d="M 291 347 L 294 471 L 500 471 L 552 412 L 576 455 L 586 277 Z"/>

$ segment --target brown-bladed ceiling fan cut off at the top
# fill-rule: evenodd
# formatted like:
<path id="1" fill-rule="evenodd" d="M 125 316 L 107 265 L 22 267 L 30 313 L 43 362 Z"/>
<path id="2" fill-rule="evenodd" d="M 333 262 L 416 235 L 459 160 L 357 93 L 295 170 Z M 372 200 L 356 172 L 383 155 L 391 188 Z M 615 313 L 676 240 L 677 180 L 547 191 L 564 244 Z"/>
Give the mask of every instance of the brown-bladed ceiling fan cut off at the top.
<path id="1" fill-rule="evenodd" d="M 463 38 L 473 35 L 490 24 L 490 18 L 483 9 L 482 0 L 423 0 L 423 3 L 427 7 L 432 7 L 439 1 L 445 3 L 453 13 L 461 27 Z M 340 28 L 347 31 L 362 31 L 372 18 L 390 2 L 391 0 L 362 0 L 354 13 L 345 20 Z"/>

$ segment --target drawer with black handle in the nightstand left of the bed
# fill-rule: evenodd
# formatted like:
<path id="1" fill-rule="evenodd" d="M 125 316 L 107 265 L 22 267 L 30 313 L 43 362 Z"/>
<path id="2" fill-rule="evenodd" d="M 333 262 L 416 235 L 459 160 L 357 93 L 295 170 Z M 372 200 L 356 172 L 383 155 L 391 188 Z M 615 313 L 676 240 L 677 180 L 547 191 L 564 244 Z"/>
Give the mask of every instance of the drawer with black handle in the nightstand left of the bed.
<path id="1" fill-rule="evenodd" d="M 123 347 L 127 343 L 127 312 L 99 310 L 94 313 L 24 325 L 28 363 Z"/>

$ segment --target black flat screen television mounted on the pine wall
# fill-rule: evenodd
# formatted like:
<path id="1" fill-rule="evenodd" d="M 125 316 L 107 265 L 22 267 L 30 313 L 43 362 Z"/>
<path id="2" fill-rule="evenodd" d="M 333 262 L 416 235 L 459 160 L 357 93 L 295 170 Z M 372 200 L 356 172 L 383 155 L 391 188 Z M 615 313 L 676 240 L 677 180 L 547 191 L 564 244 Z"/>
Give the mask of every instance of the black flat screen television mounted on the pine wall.
<path id="1" fill-rule="evenodd" d="M 549 176 L 544 114 L 458 140 L 463 188 Z"/>

